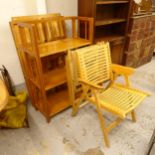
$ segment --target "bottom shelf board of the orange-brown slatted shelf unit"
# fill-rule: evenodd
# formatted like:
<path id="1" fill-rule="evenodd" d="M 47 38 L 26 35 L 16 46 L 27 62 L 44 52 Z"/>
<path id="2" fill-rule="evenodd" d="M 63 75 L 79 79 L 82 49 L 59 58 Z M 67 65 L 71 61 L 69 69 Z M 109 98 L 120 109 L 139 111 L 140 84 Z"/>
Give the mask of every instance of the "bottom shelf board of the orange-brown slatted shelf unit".
<path id="1" fill-rule="evenodd" d="M 67 89 L 61 90 L 60 92 L 56 92 L 54 94 L 48 94 L 47 99 L 50 109 L 50 116 L 53 116 L 71 106 Z"/>

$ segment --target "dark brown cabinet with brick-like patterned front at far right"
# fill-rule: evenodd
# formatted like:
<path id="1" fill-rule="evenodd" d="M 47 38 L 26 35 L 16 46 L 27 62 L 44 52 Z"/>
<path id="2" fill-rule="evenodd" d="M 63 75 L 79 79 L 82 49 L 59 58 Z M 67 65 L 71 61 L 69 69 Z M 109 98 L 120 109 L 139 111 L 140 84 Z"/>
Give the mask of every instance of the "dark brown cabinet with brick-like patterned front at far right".
<path id="1" fill-rule="evenodd" d="M 155 15 L 133 16 L 125 47 L 125 65 L 138 67 L 151 61 L 155 49 Z"/>

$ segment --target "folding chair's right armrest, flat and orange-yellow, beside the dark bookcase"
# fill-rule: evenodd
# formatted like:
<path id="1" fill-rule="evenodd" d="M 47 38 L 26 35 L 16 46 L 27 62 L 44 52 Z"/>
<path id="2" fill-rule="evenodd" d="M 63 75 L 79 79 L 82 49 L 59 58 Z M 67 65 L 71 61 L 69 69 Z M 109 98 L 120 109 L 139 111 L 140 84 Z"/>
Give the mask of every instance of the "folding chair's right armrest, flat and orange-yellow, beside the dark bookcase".
<path id="1" fill-rule="evenodd" d="M 135 69 L 131 67 L 112 64 L 112 71 L 118 75 L 129 76 L 134 73 Z"/>

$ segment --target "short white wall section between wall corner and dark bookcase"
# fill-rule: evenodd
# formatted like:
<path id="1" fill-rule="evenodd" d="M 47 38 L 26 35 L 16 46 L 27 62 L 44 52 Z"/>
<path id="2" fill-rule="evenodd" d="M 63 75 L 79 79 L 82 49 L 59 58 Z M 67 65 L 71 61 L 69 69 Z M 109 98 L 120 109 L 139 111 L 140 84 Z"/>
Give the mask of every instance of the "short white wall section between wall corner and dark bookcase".
<path id="1" fill-rule="evenodd" d="M 77 16 L 77 0 L 46 0 L 48 13 Z"/>

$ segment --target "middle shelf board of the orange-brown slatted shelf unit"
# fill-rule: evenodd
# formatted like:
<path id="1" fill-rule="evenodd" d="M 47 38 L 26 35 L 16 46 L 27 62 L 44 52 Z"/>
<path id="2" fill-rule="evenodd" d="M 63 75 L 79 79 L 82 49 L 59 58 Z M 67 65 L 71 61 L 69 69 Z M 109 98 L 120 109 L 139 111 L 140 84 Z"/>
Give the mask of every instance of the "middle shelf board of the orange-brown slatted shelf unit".
<path id="1" fill-rule="evenodd" d="M 44 82 L 46 91 L 66 83 L 67 79 L 65 68 L 59 68 L 45 73 Z"/>

